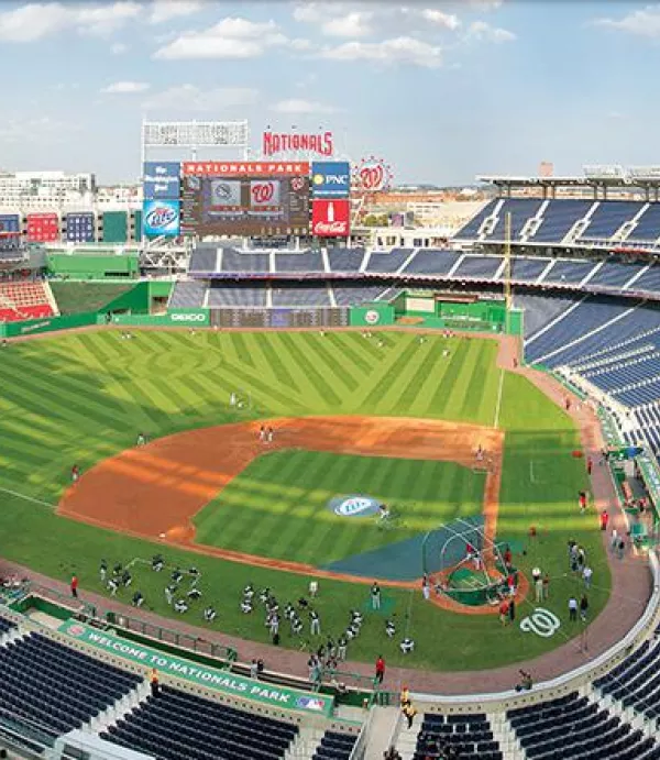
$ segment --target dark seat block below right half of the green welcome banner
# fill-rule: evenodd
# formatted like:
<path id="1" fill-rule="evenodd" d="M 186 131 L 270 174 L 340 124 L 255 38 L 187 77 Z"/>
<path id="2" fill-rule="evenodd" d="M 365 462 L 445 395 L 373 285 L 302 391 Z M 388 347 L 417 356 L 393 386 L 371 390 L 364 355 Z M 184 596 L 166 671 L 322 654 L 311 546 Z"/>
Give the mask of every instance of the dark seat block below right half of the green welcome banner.
<path id="1" fill-rule="evenodd" d="M 284 720 L 163 686 L 100 736 L 158 760 L 277 760 L 297 733 Z"/>

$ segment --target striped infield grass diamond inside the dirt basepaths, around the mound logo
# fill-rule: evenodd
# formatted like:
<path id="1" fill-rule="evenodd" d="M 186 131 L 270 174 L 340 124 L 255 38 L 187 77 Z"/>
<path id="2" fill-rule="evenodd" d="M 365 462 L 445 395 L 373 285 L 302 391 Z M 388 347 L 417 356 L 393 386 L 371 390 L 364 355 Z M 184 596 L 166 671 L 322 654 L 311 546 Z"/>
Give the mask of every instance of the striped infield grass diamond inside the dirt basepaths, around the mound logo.
<path id="1" fill-rule="evenodd" d="M 483 474 L 450 462 L 278 451 L 254 460 L 199 513 L 196 540 L 320 566 L 476 515 L 484 485 Z M 377 517 L 327 508 L 351 494 L 387 504 L 400 524 L 378 530 Z"/>

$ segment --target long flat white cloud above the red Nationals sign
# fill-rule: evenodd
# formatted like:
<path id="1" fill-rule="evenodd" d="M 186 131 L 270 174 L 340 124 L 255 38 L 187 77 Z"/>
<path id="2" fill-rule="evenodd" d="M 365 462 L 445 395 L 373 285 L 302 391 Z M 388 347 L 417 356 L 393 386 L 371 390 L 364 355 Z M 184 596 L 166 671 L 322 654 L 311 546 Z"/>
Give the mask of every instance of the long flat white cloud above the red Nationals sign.
<path id="1" fill-rule="evenodd" d="M 383 42 L 345 42 L 321 52 L 333 60 L 367 60 L 383 65 L 409 64 L 426 68 L 442 66 L 442 48 L 414 37 L 394 37 Z"/>

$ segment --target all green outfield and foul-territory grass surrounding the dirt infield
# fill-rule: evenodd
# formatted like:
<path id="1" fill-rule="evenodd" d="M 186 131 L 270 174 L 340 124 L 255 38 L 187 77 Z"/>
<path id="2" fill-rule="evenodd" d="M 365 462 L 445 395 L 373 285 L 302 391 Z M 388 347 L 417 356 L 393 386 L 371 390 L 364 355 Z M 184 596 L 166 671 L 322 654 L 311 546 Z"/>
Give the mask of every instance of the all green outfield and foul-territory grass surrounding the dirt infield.
<path id="1" fill-rule="evenodd" d="M 54 504 L 70 466 L 87 469 L 133 445 L 144 430 L 152 437 L 239 419 L 228 412 L 232 390 L 249 394 L 251 416 L 361 414 L 429 417 L 493 425 L 499 371 L 496 345 L 488 341 L 436 337 L 419 345 L 410 332 L 382 333 L 367 340 L 358 332 L 75 333 L 12 344 L 0 357 L 0 488 Z M 442 357 L 442 349 L 450 350 Z M 399 630 L 417 641 L 404 658 L 397 641 L 383 632 L 384 619 L 367 616 L 364 634 L 351 646 L 353 659 L 373 661 L 382 651 L 392 664 L 464 670 L 521 661 L 552 649 L 579 631 L 568 623 L 566 599 L 579 590 L 566 576 L 565 541 L 583 543 L 594 568 L 591 609 L 602 609 L 609 573 L 594 515 L 581 517 L 576 494 L 585 487 L 584 465 L 571 458 L 578 437 L 570 418 L 525 378 L 505 374 L 499 427 L 506 431 L 499 536 L 526 543 L 530 525 L 539 528 L 534 546 L 516 561 L 538 564 L 552 576 L 548 607 L 562 620 L 550 639 L 502 629 L 491 617 L 441 613 L 420 594 L 393 592 Z M 76 571 L 85 590 L 101 591 L 98 563 L 148 559 L 157 547 L 55 517 L 51 509 L 0 495 L 1 553 L 53 577 L 68 581 Z M 185 552 L 167 552 L 173 563 L 197 564 L 204 574 L 205 602 L 218 609 L 215 628 L 261 641 L 267 631 L 260 615 L 243 616 L 238 606 L 252 581 L 271 586 L 282 602 L 297 598 L 307 579 Z M 155 612 L 167 614 L 162 576 L 140 571 L 136 586 Z M 348 610 L 365 602 L 356 584 L 321 582 L 319 612 L 324 630 L 338 634 Z M 531 609 L 519 609 L 524 616 Z M 409 613 L 409 617 L 408 616 Z M 198 621 L 198 613 L 190 620 Z M 284 646 L 297 646 L 285 631 Z"/>

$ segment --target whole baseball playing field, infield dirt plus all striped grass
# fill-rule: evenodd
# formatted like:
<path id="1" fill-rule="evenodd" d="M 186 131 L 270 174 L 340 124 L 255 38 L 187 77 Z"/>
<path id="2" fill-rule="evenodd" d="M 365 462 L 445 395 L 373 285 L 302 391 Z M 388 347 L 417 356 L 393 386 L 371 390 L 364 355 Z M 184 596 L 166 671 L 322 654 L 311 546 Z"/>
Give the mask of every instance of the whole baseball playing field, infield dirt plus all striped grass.
<path id="1" fill-rule="evenodd" d="M 130 564 L 145 606 L 174 615 L 167 579 L 148 561 L 196 565 L 202 599 L 186 621 L 268 640 L 264 615 L 240 610 L 242 588 L 270 587 L 280 604 L 304 595 L 337 638 L 349 610 L 365 614 L 353 660 L 472 670 L 521 661 L 564 643 L 566 541 L 594 569 L 590 617 L 603 608 L 609 573 L 595 514 L 581 516 L 586 487 L 573 422 L 525 377 L 497 364 L 497 343 L 475 338 L 383 332 L 215 332 L 116 330 L 14 343 L 0 355 L 0 530 L 2 554 L 52 577 L 72 573 L 107 594 L 99 562 Z M 235 404 L 230 399 L 234 395 Z M 260 427 L 274 430 L 260 439 Z M 148 444 L 136 448 L 139 433 Z M 473 466 L 484 445 L 491 480 Z M 82 477 L 70 486 L 70 469 Z M 396 516 L 349 516 L 353 496 Z M 339 499 L 339 502 L 338 502 Z M 425 603 L 420 538 L 484 515 L 514 562 L 551 577 L 543 606 L 561 620 L 544 638 L 493 615 L 463 615 Z M 74 518 L 74 519 L 72 519 Z M 529 528 L 537 538 L 528 539 Z M 372 574 L 383 609 L 369 610 Z M 340 580 L 341 579 L 341 580 Z M 528 598 L 518 620 L 534 610 Z M 385 619 L 396 621 L 388 639 Z M 283 646 L 301 640 L 283 626 Z M 404 656 L 398 643 L 416 642 Z M 239 652 L 240 653 L 240 652 Z"/>

